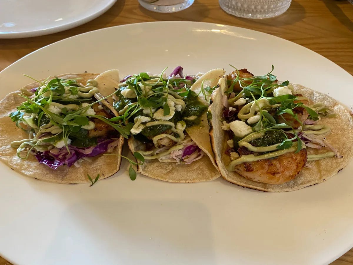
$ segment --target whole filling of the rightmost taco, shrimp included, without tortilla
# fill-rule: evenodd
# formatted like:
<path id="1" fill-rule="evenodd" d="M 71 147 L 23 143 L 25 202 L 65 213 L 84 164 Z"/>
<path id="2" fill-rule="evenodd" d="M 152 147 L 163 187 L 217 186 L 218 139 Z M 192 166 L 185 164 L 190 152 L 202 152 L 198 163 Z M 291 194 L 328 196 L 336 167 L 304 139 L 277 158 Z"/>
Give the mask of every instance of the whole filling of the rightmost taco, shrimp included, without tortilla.
<path id="1" fill-rule="evenodd" d="M 282 184 L 294 179 L 307 161 L 341 156 L 325 142 L 330 126 L 317 124 L 335 113 L 323 103 L 311 104 L 271 72 L 254 76 L 241 69 L 224 77 L 221 127 L 229 139 L 228 171 Z"/>

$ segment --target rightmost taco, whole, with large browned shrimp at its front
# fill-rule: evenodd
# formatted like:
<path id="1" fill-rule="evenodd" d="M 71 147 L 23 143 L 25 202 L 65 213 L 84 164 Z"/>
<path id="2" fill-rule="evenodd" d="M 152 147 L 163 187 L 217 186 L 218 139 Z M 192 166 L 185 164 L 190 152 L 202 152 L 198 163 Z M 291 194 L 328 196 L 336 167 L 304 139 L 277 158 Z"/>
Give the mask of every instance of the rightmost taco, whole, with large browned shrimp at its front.
<path id="1" fill-rule="evenodd" d="M 229 182 L 297 190 L 327 180 L 352 159 L 352 118 L 326 94 L 241 69 L 219 80 L 211 101 L 211 142 Z"/>

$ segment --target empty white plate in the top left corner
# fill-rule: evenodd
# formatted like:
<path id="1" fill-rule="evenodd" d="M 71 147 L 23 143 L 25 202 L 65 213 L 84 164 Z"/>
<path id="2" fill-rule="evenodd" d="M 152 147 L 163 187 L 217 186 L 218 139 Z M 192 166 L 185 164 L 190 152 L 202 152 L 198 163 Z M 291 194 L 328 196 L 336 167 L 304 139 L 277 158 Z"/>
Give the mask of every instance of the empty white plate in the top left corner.
<path id="1" fill-rule="evenodd" d="M 116 0 L 1 0 L 0 39 L 47 35 L 100 16 Z"/>

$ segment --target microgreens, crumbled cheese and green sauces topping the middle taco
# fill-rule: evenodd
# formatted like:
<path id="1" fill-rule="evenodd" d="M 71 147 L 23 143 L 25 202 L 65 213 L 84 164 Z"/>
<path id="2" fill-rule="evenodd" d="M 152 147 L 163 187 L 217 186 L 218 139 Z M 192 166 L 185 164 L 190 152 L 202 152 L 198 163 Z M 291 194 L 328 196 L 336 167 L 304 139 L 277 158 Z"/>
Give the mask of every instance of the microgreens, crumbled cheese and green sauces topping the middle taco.
<path id="1" fill-rule="evenodd" d="M 137 151 L 146 160 L 164 161 L 163 156 L 183 149 L 185 143 L 191 142 L 185 136 L 185 128 L 199 124 L 207 109 L 197 99 L 198 94 L 190 90 L 196 79 L 163 78 L 166 69 L 160 75 L 150 76 L 142 72 L 127 78 L 118 85 L 118 98 L 113 104 L 123 123 L 131 128 L 131 134 L 139 141 L 152 142 L 156 147 Z M 216 88 L 204 88 L 203 84 L 201 87 L 200 93 L 205 96 Z M 173 145 L 158 150 L 158 140 L 166 138 L 172 140 Z"/>

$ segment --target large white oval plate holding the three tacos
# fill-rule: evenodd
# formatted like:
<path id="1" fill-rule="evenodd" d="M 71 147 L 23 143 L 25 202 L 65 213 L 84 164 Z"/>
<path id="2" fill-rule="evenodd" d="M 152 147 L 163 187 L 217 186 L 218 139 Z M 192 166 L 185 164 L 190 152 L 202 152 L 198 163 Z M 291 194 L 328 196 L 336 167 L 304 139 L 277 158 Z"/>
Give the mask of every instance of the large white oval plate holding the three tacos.
<path id="1" fill-rule="evenodd" d="M 280 79 L 352 103 L 352 76 L 321 55 L 257 31 L 195 22 L 130 24 L 56 42 L 2 71 L 0 96 L 31 82 L 22 73 L 118 68 L 124 76 L 178 65 L 196 73 L 229 71 L 228 64 L 256 74 L 273 64 Z M 89 187 L 37 181 L 0 164 L 0 255 L 27 265 L 315 265 L 352 247 L 353 163 L 324 183 L 286 193 L 222 178 L 131 181 L 127 167 L 124 161 L 114 177 Z"/>

